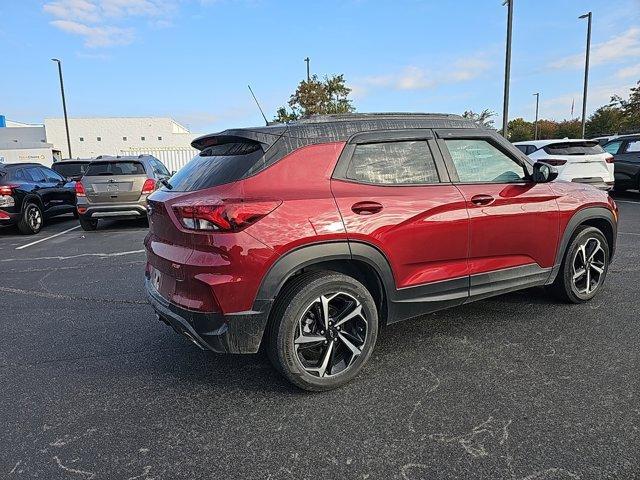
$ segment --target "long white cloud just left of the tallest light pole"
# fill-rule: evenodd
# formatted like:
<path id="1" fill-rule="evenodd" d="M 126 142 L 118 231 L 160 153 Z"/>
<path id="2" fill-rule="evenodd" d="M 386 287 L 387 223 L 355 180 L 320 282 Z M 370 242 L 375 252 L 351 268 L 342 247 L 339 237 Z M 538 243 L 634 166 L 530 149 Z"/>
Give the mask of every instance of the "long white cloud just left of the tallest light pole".
<path id="1" fill-rule="evenodd" d="M 393 90 L 426 90 L 441 85 L 466 82 L 482 75 L 491 67 L 491 63 L 482 56 L 463 57 L 454 61 L 450 69 L 427 70 L 416 65 L 408 65 L 400 71 L 386 75 L 374 75 L 362 78 L 350 85 L 354 97 L 362 97 L 374 88 Z M 443 70 L 447 70 L 446 73 Z"/>

